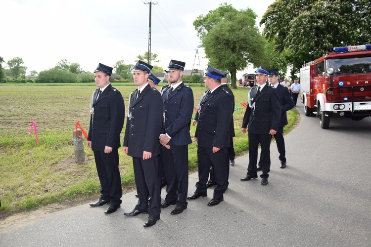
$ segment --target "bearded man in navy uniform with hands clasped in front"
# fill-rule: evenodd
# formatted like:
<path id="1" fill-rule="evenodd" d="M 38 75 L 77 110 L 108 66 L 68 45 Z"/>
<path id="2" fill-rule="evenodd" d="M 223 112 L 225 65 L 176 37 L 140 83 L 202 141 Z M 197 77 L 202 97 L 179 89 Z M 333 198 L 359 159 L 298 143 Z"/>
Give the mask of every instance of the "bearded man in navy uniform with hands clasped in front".
<path id="1" fill-rule="evenodd" d="M 193 112 L 193 92 L 182 82 L 185 62 L 171 60 L 168 66 L 171 85 L 162 93 L 164 127 L 160 136 L 163 145 L 166 198 L 162 208 L 175 205 L 171 214 L 187 208 L 188 144 L 192 143 L 189 128 Z"/>

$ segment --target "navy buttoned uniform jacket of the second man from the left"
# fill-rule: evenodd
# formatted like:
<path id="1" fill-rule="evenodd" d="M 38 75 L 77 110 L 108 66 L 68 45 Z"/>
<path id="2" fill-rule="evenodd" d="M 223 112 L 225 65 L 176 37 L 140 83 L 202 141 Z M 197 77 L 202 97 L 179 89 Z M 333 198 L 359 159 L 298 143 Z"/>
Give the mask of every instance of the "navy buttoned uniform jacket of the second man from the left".
<path id="1" fill-rule="evenodd" d="M 124 146 L 131 157 L 142 158 L 143 151 L 157 156 L 162 126 L 161 94 L 148 84 L 137 98 L 138 90 L 130 95 Z"/>

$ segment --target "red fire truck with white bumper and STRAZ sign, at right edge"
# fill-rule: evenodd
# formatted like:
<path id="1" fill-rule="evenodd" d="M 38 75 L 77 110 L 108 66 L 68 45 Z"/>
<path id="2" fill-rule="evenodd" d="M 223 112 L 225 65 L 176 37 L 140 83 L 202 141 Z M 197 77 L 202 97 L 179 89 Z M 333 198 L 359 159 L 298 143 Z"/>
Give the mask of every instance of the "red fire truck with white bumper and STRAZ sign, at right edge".
<path id="1" fill-rule="evenodd" d="M 300 69 L 305 116 L 322 128 L 331 116 L 361 120 L 371 116 L 371 45 L 336 47 Z"/>

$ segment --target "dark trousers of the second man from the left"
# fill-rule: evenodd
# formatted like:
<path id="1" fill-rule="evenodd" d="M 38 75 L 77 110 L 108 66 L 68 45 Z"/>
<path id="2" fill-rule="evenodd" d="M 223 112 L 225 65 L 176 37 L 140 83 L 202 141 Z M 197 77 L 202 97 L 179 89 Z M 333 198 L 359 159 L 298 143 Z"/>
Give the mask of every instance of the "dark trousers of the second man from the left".
<path id="1" fill-rule="evenodd" d="M 148 160 L 133 157 L 135 183 L 137 185 L 138 204 L 134 209 L 147 211 L 148 216 L 158 217 L 161 213 L 161 176 L 158 167 L 158 157 Z M 151 201 L 148 203 L 148 198 Z"/>

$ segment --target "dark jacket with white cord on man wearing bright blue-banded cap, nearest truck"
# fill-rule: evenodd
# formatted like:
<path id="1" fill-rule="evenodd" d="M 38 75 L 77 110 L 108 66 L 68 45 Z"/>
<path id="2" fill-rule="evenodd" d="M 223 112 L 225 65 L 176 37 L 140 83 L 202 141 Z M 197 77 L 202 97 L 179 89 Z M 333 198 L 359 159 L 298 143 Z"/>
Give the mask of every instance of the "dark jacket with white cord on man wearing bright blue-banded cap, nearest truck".
<path id="1" fill-rule="evenodd" d="M 281 105 L 276 88 L 268 86 L 267 83 L 257 97 L 255 97 L 257 86 L 251 90 L 248 100 L 255 102 L 255 107 L 247 106 L 242 128 L 248 125 L 248 132 L 252 134 L 269 134 L 271 129 L 277 131 L 281 117 Z"/>

